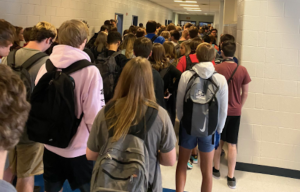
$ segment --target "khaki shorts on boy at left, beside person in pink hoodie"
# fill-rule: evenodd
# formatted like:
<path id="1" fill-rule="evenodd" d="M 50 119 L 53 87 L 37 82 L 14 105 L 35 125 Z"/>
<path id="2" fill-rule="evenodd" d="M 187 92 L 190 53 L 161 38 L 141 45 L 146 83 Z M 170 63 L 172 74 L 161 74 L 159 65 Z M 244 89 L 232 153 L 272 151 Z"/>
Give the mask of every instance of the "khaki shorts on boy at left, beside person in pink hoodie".
<path id="1" fill-rule="evenodd" d="M 43 144 L 18 144 L 9 151 L 9 167 L 18 178 L 41 175 L 44 173 L 43 154 Z"/>

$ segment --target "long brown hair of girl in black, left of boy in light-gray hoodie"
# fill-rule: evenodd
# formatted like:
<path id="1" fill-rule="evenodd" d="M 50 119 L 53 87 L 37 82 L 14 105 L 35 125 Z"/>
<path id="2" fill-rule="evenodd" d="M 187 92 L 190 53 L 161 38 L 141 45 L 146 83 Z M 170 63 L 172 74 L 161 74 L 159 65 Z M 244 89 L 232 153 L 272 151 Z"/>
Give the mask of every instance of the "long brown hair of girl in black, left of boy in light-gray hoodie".
<path id="1" fill-rule="evenodd" d="M 170 66 L 169 59 L 166 57 L 165 48 L 160 43 L 153 44 L 152 55 L 149 61 L 152 67 L 158 72 Z"/>

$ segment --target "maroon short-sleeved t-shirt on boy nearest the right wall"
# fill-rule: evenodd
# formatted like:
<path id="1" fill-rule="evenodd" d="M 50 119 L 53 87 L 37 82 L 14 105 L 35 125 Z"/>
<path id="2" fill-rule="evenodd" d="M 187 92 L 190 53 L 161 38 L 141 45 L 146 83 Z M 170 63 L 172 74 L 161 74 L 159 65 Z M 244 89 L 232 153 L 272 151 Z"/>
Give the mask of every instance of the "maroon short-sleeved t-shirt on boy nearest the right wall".
<path id="1" fill-rule="evenodd" d="M 216 65 L 216 71 L 225 76 L 226 80 L 231 77 L 237 67 L 236 63 L 224 62 Z M 241 89 L 243 85 L 251 82 L 251 78 L 245 67 L 239 66 L 230 84 L 228 85 L 228 113 L 227 116 L 241 116 L 242 98 Z"/>

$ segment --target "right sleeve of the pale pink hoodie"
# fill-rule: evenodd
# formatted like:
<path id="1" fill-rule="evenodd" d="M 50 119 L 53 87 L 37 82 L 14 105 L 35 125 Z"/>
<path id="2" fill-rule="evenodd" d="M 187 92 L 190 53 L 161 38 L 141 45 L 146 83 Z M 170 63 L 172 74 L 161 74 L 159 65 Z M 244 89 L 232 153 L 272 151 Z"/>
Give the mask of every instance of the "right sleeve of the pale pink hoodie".
<path id="1" fill-rule="evenodd" d="M 85 85 L 88 86 L 88 90 L 82 102 L 84 120 L 89 130 L 92 129 L 96 115 L 105 106 L 102 77 L 98 69 L 94 68 L 90 74 L 90 84 Z"/>

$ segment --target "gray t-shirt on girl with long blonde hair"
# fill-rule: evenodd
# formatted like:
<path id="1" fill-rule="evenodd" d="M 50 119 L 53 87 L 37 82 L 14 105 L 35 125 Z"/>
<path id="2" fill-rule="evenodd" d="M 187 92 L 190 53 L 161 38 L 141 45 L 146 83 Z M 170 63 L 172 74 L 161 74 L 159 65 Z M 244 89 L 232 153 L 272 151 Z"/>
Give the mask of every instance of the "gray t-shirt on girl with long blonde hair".
<path id="1" fill-rule="evenodd" d="M 100 152 L 108 141 L 108 129 L 104 116 L 105 107 L 98 113 L 87 146 L 94 152 Z M 158 115 L 150 128 L 146 141 L 149 153 L 149 183 L 153 185 L 153 191 L 162 191 L 162 179 L 158 162 L 158 151 L 168 153 L 175 148 L 176 135 L 170 117 L 165 109 L 159 107 Z"/>

